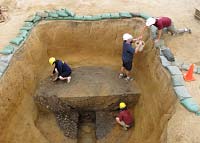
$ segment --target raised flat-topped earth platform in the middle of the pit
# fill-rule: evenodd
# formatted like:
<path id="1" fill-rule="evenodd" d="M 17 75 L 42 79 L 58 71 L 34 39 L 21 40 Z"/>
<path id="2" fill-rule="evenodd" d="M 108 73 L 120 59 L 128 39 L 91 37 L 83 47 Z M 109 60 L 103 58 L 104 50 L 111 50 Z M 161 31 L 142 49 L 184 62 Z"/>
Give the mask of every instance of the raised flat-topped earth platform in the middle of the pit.
<path id="1" fill-rule="evenodd" d="M 79 67 L 73 69 L 71 76 L 69 84 L 46 78 L 40 83 L 36 96 L 55 95 L 80 110 L 114 110 L 122 98 L 130 105 L 138 101 L 140 91 L 136 82 L 119 79 L 118 71 L 109 67 Z"/>

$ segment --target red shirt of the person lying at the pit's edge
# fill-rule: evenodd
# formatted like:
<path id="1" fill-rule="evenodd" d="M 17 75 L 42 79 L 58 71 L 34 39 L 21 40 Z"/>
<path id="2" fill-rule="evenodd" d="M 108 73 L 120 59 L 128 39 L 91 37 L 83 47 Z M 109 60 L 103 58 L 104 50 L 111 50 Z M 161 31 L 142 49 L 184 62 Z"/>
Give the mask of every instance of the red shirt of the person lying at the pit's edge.
<path id="1" fill-rule="evenodd" d="M 165 27 L 169 27 L 171 25 L 171 19 L 168 17 L 159 17 L 156 18 L 156 23 L 154 24 L 158 30 L 161 30 Z"/>

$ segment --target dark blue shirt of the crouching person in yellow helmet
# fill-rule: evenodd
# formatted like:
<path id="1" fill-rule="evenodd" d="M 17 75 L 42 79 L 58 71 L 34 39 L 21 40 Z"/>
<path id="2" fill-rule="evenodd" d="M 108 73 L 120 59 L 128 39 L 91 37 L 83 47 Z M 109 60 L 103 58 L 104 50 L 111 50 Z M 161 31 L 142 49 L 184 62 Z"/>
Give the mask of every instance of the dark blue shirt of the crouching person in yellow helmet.
<path id="1" fill-rule="evenodd" d="M 62 73 L 70 73 L 72 70 L 71 68 L 63 61 L 61 60 L 56 60 L 55 61 L 55 68 L 58 70 L 58 76 L 60 76 Z M 55 73 L 55 68 L 53 73 Z"/>

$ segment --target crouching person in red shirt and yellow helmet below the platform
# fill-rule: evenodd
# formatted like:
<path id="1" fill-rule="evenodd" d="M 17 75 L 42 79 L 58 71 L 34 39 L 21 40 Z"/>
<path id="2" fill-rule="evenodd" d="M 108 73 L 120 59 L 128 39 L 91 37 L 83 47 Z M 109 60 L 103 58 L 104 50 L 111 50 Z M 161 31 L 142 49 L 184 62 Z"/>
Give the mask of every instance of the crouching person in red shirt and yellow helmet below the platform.
<path id="1" fill-rule="evenodd" d="M 128 130 L 133 125 L 133 117 L 131 116 L 131 113 L 126 107 L 126 104 L 124 102 L 121 102 L 119 104 L 120 112 L 118 117 L 116 117 L 116 122 L 120 124 L 124 130 Z"/>

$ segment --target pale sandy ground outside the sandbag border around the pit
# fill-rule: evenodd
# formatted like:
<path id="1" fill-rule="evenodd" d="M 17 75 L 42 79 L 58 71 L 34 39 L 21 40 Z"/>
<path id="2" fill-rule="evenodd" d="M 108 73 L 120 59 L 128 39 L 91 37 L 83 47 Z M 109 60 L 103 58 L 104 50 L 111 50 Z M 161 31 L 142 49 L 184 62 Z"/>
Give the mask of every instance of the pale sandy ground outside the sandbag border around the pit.
<path id="1" fill-rule="evenodd" d="M 19 1 L 19 0 L 18 0 Z M 191 35 L 179 37 L 165 37 L 166 44 L 172 49 L 176 57 L 186 63 L 199 63 L 200 57 L 200 22 L 193 17 L 194 8 L 200 5 L 199 0 L 28 0 L 18 4 L 14 0 L 0 0 L 0 3 L 10 8 L 10 19 L 0 24 L 0 48 L 7 45 L 9 40 L 17 35 L 23 20 L 39 10 L 67 7 L 78 14 L 96 14 L 103 12 L 133 11 L 145 12 L 153 16 L 169 16 L 177 27 L 188 26 Z M 200 103 L 200 77 L 197 81 L 187 83 L 192 96 Z M 169 122 L 168 143 L 198 143 L 200 118 L 186 111 L 179 103 L 176 112 Z"/>

